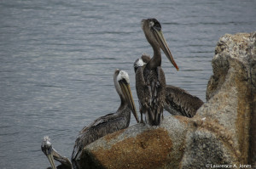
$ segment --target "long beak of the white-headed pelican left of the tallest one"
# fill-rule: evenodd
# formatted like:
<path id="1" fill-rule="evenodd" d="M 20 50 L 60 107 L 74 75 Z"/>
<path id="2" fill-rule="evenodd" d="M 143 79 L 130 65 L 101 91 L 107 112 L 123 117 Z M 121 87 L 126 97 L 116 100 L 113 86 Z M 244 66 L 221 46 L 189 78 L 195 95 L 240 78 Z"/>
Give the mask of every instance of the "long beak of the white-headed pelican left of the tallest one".
<path id="1" fill-rule="evenodd" d="M 132 98 L 132 94 L 131 94 L 131 88 L 129 83 L 127 82 L 123 82 L 123 81 L 119 81 L 119 86 L 121 87 L 122 93 L 125 94 L 125 99 L 128 101 L 128 104 L 131 108 L 132 114 L 134 115 L 135 119 L 137 122 L 139 122 L 138 120 L 138 116 L 137 116 L 137 110 Z"/>

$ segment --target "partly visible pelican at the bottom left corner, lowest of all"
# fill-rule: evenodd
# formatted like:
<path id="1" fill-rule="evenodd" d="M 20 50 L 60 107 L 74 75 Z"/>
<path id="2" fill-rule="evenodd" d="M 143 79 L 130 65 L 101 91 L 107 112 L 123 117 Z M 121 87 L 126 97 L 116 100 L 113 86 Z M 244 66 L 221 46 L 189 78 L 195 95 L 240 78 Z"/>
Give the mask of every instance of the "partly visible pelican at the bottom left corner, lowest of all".
<path id="1" fill-rule="evenodd" d="M 47 156 L 50 166 L 53 169 L 56 169 L 55 166 L 55 161 L 61 162 L 60 166 L 57 166 L 57 168 L 62 168 L 62 169 L 72 169 L 71 162 L 68 160 L 67 157 L 61 156 L 53 147 L 52 144 L 50 143 L 50 139 L 48 136 L 44 136 L 43 143 L 41 145 L 41 149 L 44 152 L 44 155 Z M 55 159 L 55 161 L 54 161 Z"/>

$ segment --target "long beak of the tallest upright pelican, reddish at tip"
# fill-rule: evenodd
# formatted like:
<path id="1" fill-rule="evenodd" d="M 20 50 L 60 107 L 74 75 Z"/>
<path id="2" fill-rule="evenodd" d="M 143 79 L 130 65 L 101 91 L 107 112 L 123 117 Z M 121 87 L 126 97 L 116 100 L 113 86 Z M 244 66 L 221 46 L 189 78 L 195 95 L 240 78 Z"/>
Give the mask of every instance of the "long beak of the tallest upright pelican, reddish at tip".
<path id="1" fill-rule="evenodd" d="M 172 65 L 174 65 L 174 67 L 176 68 L 176 70 L 178 70 L 177 64 L 175 63 L 170 48 L 168 47 L 167 43 L 166 43 L 166 39 L 162 33 L 162 31 L 158 31 L 156 29 L 154 29 L 154 37 L 156 38 L 157 42 L 160 44 L 160 48 L 164 51 L 164 53 L 166 54 L 166 57 L 171 61 Z"/>

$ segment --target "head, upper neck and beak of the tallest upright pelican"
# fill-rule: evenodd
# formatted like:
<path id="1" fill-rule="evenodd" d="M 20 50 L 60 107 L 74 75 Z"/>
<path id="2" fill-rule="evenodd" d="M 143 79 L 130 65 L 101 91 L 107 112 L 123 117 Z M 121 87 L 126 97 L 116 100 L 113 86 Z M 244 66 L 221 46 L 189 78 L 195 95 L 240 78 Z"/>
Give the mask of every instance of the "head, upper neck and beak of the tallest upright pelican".
<path id="1" fill-rule="evenodd" d="M 172 65 L 178 70 L 177 64 L 175 63 L 171 51 L 166 43 L 166 39 L 162 33 L 160 22 L 156 19 L 142 20 L 142 28 L 148 42 L 155 49 L 161 48 L 166 57 L 171 61 Z"/>

